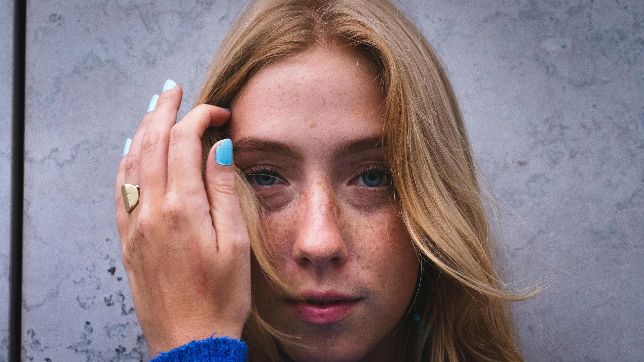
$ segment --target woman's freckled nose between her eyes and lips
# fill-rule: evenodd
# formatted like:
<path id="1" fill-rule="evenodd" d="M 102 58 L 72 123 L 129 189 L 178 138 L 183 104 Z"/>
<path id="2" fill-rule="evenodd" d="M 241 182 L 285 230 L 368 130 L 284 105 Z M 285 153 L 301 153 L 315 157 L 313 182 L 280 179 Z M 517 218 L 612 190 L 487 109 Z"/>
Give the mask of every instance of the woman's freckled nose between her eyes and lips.
<path id="1" fill-rule="evenodd" d="M 348 249 L 339 230 L 339 206 L 330 185 L 324 181 L 312 183 L 303 195 L 301 210 L 294 260 L 303 267 L 345 264 Z"/>

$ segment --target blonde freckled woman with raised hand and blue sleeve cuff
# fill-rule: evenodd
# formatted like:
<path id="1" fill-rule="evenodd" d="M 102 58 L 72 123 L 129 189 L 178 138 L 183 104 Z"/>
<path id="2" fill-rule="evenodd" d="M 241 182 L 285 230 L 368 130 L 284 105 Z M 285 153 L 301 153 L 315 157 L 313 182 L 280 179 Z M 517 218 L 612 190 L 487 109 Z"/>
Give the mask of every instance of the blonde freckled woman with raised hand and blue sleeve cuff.
<path id="1" fill-rule="evenodd" d="M 522 361 L 457 100 L 395 6 L 257 1 L 175 124 L 181 98 L 117 176 L 154 361 Z"/>

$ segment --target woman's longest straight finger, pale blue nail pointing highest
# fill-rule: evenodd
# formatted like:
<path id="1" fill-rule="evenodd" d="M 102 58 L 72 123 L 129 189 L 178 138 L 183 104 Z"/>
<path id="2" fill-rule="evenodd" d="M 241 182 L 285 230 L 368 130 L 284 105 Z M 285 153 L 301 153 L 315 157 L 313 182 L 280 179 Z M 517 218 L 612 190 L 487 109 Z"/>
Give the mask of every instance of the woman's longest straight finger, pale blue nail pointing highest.
<path id="1" fill-rule="evenodd" d="M 184 95 L 182 87 L 173 80 L 167 80 L 163 89 L 141 141 L 139 182 L 141 197 L 146 199 L 166 193 L 170 130 L 176 123 L 176 113 Z"/>

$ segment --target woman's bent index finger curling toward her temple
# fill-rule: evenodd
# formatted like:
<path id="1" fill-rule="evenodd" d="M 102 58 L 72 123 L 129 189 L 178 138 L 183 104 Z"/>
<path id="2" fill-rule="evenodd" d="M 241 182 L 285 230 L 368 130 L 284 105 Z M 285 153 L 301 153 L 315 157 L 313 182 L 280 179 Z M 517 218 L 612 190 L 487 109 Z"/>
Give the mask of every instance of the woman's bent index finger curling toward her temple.
<path id="1" fill-rule="evenodd" d="M 201 104 L 172 127 L 168 149 L 167 192 L 193 196 L 204 192 L 201 138 L 208 127 L 223 125 L 231 111 Z"/>

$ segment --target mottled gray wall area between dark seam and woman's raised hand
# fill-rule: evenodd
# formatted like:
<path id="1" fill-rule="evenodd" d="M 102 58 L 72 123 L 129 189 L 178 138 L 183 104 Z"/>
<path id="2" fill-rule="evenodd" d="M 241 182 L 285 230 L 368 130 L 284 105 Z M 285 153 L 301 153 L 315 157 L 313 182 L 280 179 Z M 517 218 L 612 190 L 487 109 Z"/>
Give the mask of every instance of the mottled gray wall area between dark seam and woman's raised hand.
<path id="1" fill-rule="evenodd" d="M 167 78 L 187 113 L 242 5 L 28 2 L 24 359 L 148 358 L 120 261 L 115 172 Z"/>

